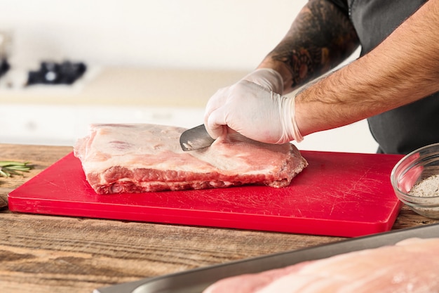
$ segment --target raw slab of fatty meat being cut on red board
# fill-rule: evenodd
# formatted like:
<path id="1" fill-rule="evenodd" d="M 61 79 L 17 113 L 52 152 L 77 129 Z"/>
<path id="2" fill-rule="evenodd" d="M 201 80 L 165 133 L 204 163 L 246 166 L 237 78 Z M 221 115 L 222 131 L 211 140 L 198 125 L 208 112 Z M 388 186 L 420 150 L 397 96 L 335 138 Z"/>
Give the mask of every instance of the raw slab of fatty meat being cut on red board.
<path id="1" fill-rule="evenodd" d="M 281 188 L 307 165 L 291 143 L 271 145 L 238 134 L 184 152 L 186 130 L 156 124 L 93 124 L 74 155 L 100 194 L 225 188 L 260 184 Z"/>

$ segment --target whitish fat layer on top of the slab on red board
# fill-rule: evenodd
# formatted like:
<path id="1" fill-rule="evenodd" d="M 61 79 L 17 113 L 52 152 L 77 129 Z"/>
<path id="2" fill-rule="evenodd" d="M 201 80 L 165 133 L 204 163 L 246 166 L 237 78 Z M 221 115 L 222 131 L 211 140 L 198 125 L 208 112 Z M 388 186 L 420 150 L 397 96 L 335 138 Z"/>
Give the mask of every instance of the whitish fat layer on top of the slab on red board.
<path id="1" fill-rule="evenodd" d="M 203 150 L 194 150 L 184 152 L 180 146 L 180 135 L 186 129 L 180 127 L 167 126 L 166 128 L 156 126 L 154 124 L 127 124 L 125 127 L 114 127 L 112 125 L 93 125 L 91 129 L 94 131 L 90 134 L 91 139 L 87 141 L 86 150 L 82 152 L 83 167 L 89 173 L 93 171 L 100 172 L 113 166 L 127 167 L 128 169 L 145 168 L 148 164 L 156 170 L 167 171 L 192 171 L 196 169 L 198 172 L 212 172 L 221 169 L 224 171 L 240 171 L 243 164 L 248 164 L 249 159 L 257 162 L 258 158 L 249 158 L 245 152 L 234 152 L 229 154 L 230 148 L 221 152 L 220 139 L 215 141 L 212 147 Z M 246 143 L 236 144 L 236 148 L 257 148 L 262 143 Z M 216 146 L 215 146 L 216 145 Z M 78 147 L 79 148 L 79 147 Z M 276 148 L 289 148 L 288 145 L 276 145 Z M 191 156 L 196 159 L 177 159 L 175 164 L 170 167 L 170 160 L 163 162 L 154 161 L 154 154 L 169 152 L 170 156 L 177 154 L 178 156 Z M 105 154 L 112 154 L 107 159 Z M 149 154 L 149 156 L 144 155 Z M 100 157 L 102 155 L 102 158 Z M 149 159 L 152 159 L 149 162 Z M 197 160 L 199 159 L 199 160 Z M 203 164 L 200 164 L 203 162 Z M 255 165 L 256 166 L 256 165 Z M 246 174 L 261 174 L 273 171 L 273 164 L 257 165 L 257 169 L 245 170 Z M 281 169 L 282 166 L 278 166 Z M 274 170 L 276 171 L 276 170 Z"/>

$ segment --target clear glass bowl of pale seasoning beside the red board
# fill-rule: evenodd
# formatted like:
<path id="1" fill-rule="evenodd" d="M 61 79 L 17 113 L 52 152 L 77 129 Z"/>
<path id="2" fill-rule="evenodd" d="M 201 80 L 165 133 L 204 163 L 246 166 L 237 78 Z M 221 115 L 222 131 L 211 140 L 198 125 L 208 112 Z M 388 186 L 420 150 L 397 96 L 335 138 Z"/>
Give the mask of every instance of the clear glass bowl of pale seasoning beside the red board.
<path id="1" fill-rule="evenodd" d="M 391 184 L 401 202 L 421 216 L 439 219 L 439 178 L 429 186 L 430 195 L 415 193 L 413 187 L 439 174 L 439 143 L 426 145 L 400 159 L 391 172 Z M 437 182 L 437 183 L 436 183 Z M 425 183 L 425 181 L 424 181 Z M 434 190 L 435 189 L 435 190 Z M 410 194 L 412 191 L 412 194 Z"/>

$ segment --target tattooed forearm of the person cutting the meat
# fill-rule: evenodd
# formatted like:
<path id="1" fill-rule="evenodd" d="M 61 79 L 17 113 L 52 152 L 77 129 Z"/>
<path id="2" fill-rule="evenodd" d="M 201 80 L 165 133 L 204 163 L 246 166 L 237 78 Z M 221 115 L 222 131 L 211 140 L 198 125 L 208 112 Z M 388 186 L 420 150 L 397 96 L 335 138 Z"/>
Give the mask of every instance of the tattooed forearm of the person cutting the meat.
<path id="1" fill-rule="evenodd" d="M 357 46 L 347 15 L 330 1 L 310 0 L 267 58 L 288 67 L 294 89 L 337 66 Z"/>

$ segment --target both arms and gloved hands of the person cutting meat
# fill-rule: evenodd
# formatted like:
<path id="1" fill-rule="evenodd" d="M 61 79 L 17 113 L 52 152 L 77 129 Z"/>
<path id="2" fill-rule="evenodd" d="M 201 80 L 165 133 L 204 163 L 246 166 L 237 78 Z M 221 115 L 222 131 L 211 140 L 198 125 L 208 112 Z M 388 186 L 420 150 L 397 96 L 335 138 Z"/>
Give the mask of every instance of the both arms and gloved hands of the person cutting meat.
<path id="1" fill-rule="evenodd" d="M 439 91 L 438 28 L 439 0 L 429 0 L 366 56 L 310 84 L 295 99 L 273 98 L 281 91 L 261 89 L 266 79 L 282 78 L 278 84 L 283 84 L 282 94 L 288 93 L 338 65 L 358 46 L 351 22 L 338 7 L 310 0 L 259 65 L 281 77 L 255 70 L 252 77 L 264 72 L 261 83 L 243 79 L 217 91 L 206 106 L 206 129 L 212 137 L 227 134 L 227 126 L 255 141 L 285 143 L 300 140 L 297 126 L 305 136 L 420 100 Z"/>

